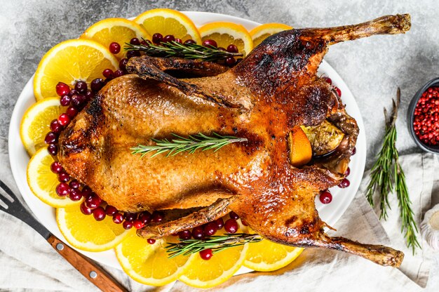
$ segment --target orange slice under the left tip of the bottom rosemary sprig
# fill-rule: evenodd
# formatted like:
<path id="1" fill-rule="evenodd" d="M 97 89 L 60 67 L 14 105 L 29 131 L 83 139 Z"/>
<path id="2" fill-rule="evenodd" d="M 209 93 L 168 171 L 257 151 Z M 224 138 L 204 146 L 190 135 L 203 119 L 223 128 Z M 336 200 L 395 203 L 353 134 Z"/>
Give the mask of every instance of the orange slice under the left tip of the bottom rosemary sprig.
<path id="1" fill-rule="evenodd" d="M 163 286 L 175 281 L 187 267 L 189 255 L 168 258 L 166 242 L 176 241 L 176 237 L 166 237 L 149 244 L 133 230 L 114 251 L 123 270 L 135 281 Z"/>

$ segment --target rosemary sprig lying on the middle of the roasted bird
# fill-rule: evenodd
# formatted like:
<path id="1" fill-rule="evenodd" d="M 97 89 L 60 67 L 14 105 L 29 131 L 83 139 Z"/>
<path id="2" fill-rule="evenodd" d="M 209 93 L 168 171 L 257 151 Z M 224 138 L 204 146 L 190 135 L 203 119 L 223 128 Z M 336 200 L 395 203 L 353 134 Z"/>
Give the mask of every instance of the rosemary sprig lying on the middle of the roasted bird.
<path id="1" fill-rule="evenodd" d="M 153 151 L 156 151 L 156 153 L 151 157 L 166 152 L 168 152 L 166 157 L 170 157 L 184 151 L 188 151 L 189 154 L 192 154 L 198 149 L 201 149 L 202 151 L 215 149 L 214 152 L 217 152 L 222 147 L 231 143 L 247 141 L 247 138 L 237 138 L 227 135 L 223 136 L 215 132 L 212 134 L 212 137 L 206 136 L 203 133 L 198 133 L 196 135 L 189 135 L 188 138 L 183 138 L 180 135 L 172 133 L 172 135 L 178 139 L 157 140 L 152 138 L 151 140 L 156 142 L 156 145 L 137 145 L 136 147 L 130 148 L 130 150 L 132 150 L 132 154 L 142 154 L 142 157 Z"/>

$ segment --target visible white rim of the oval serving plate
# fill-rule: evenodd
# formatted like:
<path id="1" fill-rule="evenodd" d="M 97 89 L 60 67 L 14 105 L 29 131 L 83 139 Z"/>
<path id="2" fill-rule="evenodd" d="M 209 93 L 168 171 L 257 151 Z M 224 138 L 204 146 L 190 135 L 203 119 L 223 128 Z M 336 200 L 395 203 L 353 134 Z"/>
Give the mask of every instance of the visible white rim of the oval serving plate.
<path id="1" fill-rule="evenodd" d="M 189 16 L 189 18 L 194 21 L 197 27 L 204 25 L 205 23 L 214 21 L 235 22 L 243 25 L 246 29 L 249 30 L 253 27 L 256 27 L 257 25 L 260 25 L 258 22 L 245 20 L 243 18 L 238 18 L 231 15 L 198 11 L 182 12 Z M 339 220 L 339 218 L 343 215 L 344 211 L 346 211 L 346 209 L 349 207 L 349 204 L 351 204 L 353 197 L 355 197 L 355 194 L 358 191 L 361 179 L 363 178 L 366 160 L 365 128 L 363 118 L 361 117 L 360 110 L 355 101 L 355 98 L 353 98 L 351 91 L 344 83 L 343 79 L 339 76 L 339 74 L 337 74 L 337 72 L 335 72 L 335 69 L 333 69 L 327 62 L 325 62 L 325 60 L 323 60 L 322 64 L 320 64 L 319 67 L 319 73 L 329 76 L 332 79 L 333 84 L 340 88 L 340 90 L 342 91 L 342 100 L 343 102 L 346 102 L 346 111 L 356 119 L 358 128 L 360 128 L 360 133 L 358 135 L 358 140 L 356 144 L 357 154 L 351 158 L 350 164 L 350 166 L 355 166 L 355 168 L 351 167 L 351 175 L 349 175 L 351 185 L 344 190 L 341 190 L 338 187 L 332 188 L 331 191 L 333 194 L 333 201 L 331 204 L 323 205 L 320 204 L 318 199 L 316 199 L 316 206 L 318 208 L 320 218 L 325 220 L 329 225 L 334 225 L 337 220 Z M 39 201 L 39 199 L 37 199 L 34 194 L 32 194 L 29 186 L 27 185 L 26 165 L 27 161 L 29 161 L 29 157 L 27 156 L 27 152 L 22 146 L 19 133 L 22 114 L 24 114 L 25 110 L 27 110 L 27 108 L 35 102 L 33 93 L 33 79 L 34 76 L 32 76 L 29 81 L 27 81 L 27 84 L 23 88 L 17 102 L 15 103 L 13 114 L 11 116 L 11 123 L 8 133 L 8 152 L 11 162 L 11 170 L 15 183 L 18 186 L 18 190 L 20 190 L 23 199 L 25 199 L 27 206 L 29 206 L 35 217 L 43 225 L 45 225 L 52 234 L 68 244 L 68 242 L 62 236 L 60 230 L 58 230 L 58 226 L 56 225 L 55 209 L 44 204 L 42 201 Z M 96 260 L 98 263 L 109 265 L 110 267 L 115 267 L 116 269 L 122 270 L 121 265 L 119 265 L 119 262 L 117 261 L 116 255 L 113 250 L 101 252 L 88 252 L 78 249 L 76 250 L 83 255 L 86 255 L 89 258 Z M 244 272 L 250 271 L 250 269 L 243 267 L 237 272 L 237 274 L 242 274 Z"/>

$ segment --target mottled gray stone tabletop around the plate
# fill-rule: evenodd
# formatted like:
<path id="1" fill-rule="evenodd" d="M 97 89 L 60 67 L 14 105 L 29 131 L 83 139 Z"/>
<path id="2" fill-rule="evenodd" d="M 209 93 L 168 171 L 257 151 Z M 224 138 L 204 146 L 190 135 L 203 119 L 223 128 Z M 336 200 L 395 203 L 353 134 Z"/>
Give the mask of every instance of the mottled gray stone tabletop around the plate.
<path id="1" fill-rule="evenodd" d="M 131 17 L 156 7 L 225 13 L 262 23 L 283 22 L 293 27 L 346 25 L 386 14 L 410 13 L 412 29 L 407 34 L 337 44 L 330 48 L 325 60 L 346 81 L 363 114 L 367 167 L 381 146 L 382 109 L 391 106 L 398 86 L 402 106 L 397 123 L 397 146 L 402 153 L 421 151 L 407 131 L 405 112 L 417 89 L 439 76 L 439 3 L 436 0 L 0 0 L 0 136 L 7 137 L 15 101 L 50 47 L 76 38 L 97 20 Z M 435 277 L 431 279 L 435 284 L 439 282 L 437 263 L 436 259 Z"/>

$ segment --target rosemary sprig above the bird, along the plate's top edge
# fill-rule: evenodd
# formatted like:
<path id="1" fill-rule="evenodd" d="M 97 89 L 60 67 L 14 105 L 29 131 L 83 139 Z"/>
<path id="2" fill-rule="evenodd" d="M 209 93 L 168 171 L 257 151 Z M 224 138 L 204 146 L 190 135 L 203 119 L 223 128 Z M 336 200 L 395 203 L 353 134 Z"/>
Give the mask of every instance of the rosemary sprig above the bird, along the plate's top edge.
<path id="1" fill-rule="evenodd" d="M 144 40 L 144 39 L 143 39 Z M 224 60 L 228 57 L 241 57 L 243 53 L 230 53 L 219 50 L 215 47 L 200 46 L 197 44 L 180 44 L 177 41 L 169 41 L 161 43 L 161 46 L 154 44 L 133 45 L 125 43 L 123 47 L 125 51 L 141 51 L 152 57 L 175 57 L 184 59 L 201 59 L 204 61 L 215 62 Z"/>

